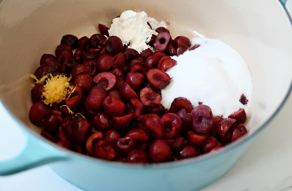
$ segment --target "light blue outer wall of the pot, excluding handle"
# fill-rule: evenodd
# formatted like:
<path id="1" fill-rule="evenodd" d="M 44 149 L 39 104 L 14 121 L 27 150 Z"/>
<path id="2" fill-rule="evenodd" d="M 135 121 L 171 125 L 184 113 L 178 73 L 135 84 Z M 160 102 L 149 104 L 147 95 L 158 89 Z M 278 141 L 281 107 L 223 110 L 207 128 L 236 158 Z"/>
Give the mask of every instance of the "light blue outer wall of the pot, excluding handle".
<path id="1" fill-rule="evenodd" d="M 117 168 L 99 163 L 90 164 L 84 160 L 53 163 L 50 167 L 68 182 L 90 191 L 196 191 L 217 181 L 229 171 L 252 141 L 227 150 L 222 155 L 177 167 Z"/>

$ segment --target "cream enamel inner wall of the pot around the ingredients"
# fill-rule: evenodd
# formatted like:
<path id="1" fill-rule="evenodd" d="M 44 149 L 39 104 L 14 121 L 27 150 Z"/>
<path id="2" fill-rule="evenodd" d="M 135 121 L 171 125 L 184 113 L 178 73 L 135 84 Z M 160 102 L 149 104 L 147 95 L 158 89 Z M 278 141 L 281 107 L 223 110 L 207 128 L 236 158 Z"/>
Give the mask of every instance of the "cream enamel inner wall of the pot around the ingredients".
<path id="1" fill-rule="evenodd" d="M 217 38 L 231 45 L 246 60 L 254 95 L 246 126 L 255 131 L 275 112 L 292 79 L 291 23 L 277 0 L 193 1 L 78 1 L 3 0 L 0 4 L 0 96 L 7 108 L 27 127 L 29 74 L 43 53 L 54 53 L 65 34 L 77 37 L 99 33 L 94 25 L 110 26 L 124 10 L 142 11 L 171 22 L 173 37 Z M 214 97 L 215 99 L 215 97 Z M 228 104 L 228 103 L 226 103 Z"/>

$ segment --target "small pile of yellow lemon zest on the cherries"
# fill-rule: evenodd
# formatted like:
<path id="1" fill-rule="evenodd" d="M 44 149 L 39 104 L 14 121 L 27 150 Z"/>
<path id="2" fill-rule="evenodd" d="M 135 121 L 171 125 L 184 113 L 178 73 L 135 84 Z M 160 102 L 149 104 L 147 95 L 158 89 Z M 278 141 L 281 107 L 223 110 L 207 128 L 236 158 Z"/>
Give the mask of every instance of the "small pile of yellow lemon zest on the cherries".
<path id="1" fill-rule="evenodd" d="M 50 78 L 48 78 L 49 76 Z M 71 76 L 67 78 L 65 74 L 53 76 L 51 73 L 49 73 L 44 75 L 44 77 L 42 77 L 40 80 L 38 80 L 33 74 L 29 75 L 29 77 L 35 79 L 36 83 L 44 83 L 46 81 L 43 92 L 43 97 L 45 98 L 44 103 L 46 105 L 52 106 L 53 103 L 60 103 L 66 99 L 67 94 L 71 95 L 71 93 L 76 89 L 76 87 L 73 87 L 69 84 Z M 36 83 L 32 84 L 32 86 L 34 86 Z M 69 112 L 71 111 L 69 108 L 68 110 Z"/>

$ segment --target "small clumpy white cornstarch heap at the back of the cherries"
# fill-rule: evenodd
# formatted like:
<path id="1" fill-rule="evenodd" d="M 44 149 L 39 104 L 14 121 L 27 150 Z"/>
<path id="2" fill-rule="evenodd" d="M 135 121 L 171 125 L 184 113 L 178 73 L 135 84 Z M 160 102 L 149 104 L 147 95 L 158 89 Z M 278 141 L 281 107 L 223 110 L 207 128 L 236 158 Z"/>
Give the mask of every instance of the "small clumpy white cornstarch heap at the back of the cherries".
<path id="1" fill-rule="evenodd" d="M 133 48 L 138 52 L 142 52 L 147 48 L 152 49 L 146 43 L 151 40 L 152 34 L 157 35 L 158 33 L 155 31 L 156 28 L 150 29 L 147 24 L 148 20 L 151 20 L 151 23 L 156 28 L 166 26 L 164 21 L 158 22 L 151 17 L 148 18 L 144 11 L 136 13 L 132 10 L 126 10 L 120 17 L 112 20 L 108 30 L 109 36 L 118 36 L 124 45 L 128 45 L 128 48 Z"/>

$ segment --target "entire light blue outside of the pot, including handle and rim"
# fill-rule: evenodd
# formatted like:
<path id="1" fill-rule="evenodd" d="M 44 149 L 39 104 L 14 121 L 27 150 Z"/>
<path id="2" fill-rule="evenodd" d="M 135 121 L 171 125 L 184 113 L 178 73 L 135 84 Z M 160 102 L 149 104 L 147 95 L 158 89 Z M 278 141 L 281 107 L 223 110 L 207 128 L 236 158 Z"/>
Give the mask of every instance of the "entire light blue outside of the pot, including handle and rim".
<path id="1" fill-rule="evenodd" d="M 285 2 L 282 0 L 283 5 Z M 290 92 L 291 87 L 281 106 Z M 0 162 L 0 176 L 49 164 L 62 178 L 89 191 L 196 191 L 217 181 L 228 172 L 277 114 L 281 106 L 260 129 L 250 136 L 244 136 L 236 143 L 208 155 L 175 163 L 135 165 L 93 159 L 57 148 L 53 143 L 41 140 L 26 128 L 22 128 L 27 137 L 27 145 L 14 159 Z M 13 117 L 12 114 L 11 116 Z M 22 127 L 20 123 L 19 126 Z"/>

